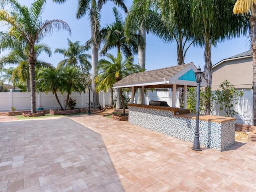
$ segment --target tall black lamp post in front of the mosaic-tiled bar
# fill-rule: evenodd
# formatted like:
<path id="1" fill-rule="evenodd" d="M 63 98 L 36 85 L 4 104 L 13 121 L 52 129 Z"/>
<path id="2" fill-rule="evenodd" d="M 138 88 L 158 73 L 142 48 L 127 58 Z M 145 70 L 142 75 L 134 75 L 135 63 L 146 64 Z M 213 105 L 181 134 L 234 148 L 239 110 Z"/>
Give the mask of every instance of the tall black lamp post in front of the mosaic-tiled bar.
<path id="1" fill-rule="evenodd" d="M 200 104 L 200 83 L 203 78 L 203 73 L 201 71 L 201 68 L 197 68 L 197 72 L 195 72 L 196 76 L 196 131 L 195 131 L 195 138 L 194 138 L 194 144 L 192 147 L 192 150 L 196 151 L 202 151 L 200 148 L 200 142 L 199 142 L 199 104 Z"/>

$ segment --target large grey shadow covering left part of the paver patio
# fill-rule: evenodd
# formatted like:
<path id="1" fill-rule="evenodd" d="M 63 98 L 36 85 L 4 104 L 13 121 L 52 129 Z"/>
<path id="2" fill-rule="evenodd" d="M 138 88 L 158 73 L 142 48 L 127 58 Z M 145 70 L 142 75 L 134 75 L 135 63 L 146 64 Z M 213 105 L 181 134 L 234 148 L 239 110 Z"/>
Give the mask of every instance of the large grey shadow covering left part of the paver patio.
<path id="1" fill-rule="evenodd" d="M 70 118 L 2 122 L 0 130 L 0 162 L 13 159 L 1 172 L 7 190 L 124 191 L 100 134 Z M 22 182 L 10 174 L 17 168 Z"/>

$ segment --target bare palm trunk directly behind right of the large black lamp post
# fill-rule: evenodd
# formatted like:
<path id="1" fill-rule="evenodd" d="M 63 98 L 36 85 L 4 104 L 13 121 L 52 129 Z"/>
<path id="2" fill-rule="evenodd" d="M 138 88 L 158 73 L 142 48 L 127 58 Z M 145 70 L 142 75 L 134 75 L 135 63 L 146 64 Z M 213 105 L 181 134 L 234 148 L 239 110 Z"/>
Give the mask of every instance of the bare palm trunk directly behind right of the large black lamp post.
<path id="1" fill-rule="evenodd" d="M 205 104 L 205 114 L 210 115 L 211 112 L 211 86 L 212 86 L 212 60 L 211 60 L 211 45 L 210 42 L 206 42 L 205 50 L 204 50 L 204 78 L 207 81 L 206 91 L 206 104 Z"/>

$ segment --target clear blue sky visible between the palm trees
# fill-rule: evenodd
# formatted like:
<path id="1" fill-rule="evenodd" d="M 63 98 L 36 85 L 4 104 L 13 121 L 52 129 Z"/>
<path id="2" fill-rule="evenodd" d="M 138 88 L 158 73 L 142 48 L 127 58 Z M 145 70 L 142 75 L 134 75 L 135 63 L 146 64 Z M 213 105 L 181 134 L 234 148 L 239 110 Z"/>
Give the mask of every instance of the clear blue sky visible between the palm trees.
<path id="1" fill-rule="evenodd" d="M 30 6 L 33 1 L 19 0 L 19 2 Z M 126 5 L 127 7 L 130 7 L 132 5 L 132 0 L 127 0 Z M 113 7 L 114 4 L 112 2 L 108 2 L 103 6 L 101 13 L 102 27 L 104 27 L 105 24 L 109 24 L 114 21 L 114 16 L 112 14 Z M 54 50 L 56 48 L 68 48 L 67 38 L 72 42 L 78 40 L 82 44 L 90 39 L 90 20 L 87 15 L 82 19 L 77 20 L 75 18 L 76 9 L 77 0 L 67 0 L 64 4 L 56 4 L 51 0 L 46 3 L 42 14 L 42 20 L 64 20 L 70 26 L 72 36 L 69 36 L 66 31 L 54 31 L 52 36 L 46 37 L 43 40 L 44 43 L 51 47 L 52 57 L 49 58 L 46 54 L 41 54 L 39 59 L 57 66 L 58 62 L 64 59 L 64 56 L 58 53 L 54 54 Z M 123 13 L 123 16 L 125 17 L 124 12 L 122 10 L 120 10 L 120 12 Z M 176 42 L 173 42 L 172 44 L 164 44 L 159 38 L 148 34 L 146 36 L 146 44 L 146 70 L 177 65 Z M 246 37 L 235 38 L 233 40 L 222 42 L 218 44 L 216 48 L 212 48 L 212 65 L 220 62 L 224 58 L 245 52 L 249 49 L 250 46 Z M 91 54 L 90 51 L 88 51 L 88 53 Z M 110 53 L 116 55 L 116 50 L 111 50 Z M 193 62 L 196 66 L 200 66 L 200 68 L 204 70 L 204 49 L 191 46 L 185 57 L 185 63 L 189 62 Z M 138 56 L 134 56 L 134 63 L 138 64 Z"/>

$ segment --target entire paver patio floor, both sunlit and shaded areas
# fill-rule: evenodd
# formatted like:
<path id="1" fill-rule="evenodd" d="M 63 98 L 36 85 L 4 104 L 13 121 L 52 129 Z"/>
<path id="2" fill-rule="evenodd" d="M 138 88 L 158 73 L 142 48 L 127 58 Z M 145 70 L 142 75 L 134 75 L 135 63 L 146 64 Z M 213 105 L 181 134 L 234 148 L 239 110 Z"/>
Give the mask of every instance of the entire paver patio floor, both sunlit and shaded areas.
<path id="1" fill-rule="evenodd" d="M 0 122 L 0 192 L 256 191 L 256 143 L 191 146 L 96 115 Z"/>

